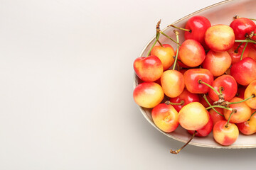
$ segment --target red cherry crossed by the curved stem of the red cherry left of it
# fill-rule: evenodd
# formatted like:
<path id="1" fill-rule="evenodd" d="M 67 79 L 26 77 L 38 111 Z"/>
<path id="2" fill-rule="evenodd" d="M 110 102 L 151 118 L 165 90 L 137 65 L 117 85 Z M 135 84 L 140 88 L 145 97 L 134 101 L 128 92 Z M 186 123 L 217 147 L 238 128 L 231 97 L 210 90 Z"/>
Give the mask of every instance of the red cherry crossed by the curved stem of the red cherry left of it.
<path id="1" fill-rule="evenodd" d="M 220 91 L 220 87 L 223 89 L 222 93 L 225 101 L 230 101 L 233 97 L 235 97 L 235 94 L 238 91 L 237 82 L 232 76 L 227 74 L 222 75 L 213 81 L 213 88 L 215 90 Z M 218 101 L 218 94 L 216 94 L 213 89 L 210 89 L 208 94 L 213 101 Z"/>

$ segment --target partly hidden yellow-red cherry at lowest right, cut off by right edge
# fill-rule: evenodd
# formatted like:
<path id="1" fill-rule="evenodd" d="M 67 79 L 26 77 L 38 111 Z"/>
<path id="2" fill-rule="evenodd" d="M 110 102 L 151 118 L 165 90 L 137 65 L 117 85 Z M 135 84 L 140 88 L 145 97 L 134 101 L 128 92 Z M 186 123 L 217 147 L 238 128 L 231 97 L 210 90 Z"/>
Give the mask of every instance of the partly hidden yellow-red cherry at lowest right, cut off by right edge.
<path id="1" fill-rule="evenodd" d="M 252 110 L 252 115 L 249 120 L 243 123 L 237 123 L 238 129 L 244 135 L 252 135 L 256 132 L 256 114 L 255 110 Z"/>

